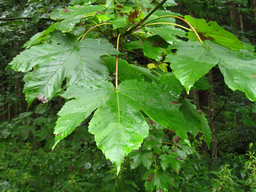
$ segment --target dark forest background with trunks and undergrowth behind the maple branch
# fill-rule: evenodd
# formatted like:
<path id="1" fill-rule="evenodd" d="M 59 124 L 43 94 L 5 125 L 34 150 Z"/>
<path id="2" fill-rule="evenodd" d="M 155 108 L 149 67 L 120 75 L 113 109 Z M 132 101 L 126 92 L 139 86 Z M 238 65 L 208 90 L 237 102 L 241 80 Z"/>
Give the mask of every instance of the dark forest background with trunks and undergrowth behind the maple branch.
<path id="1" fill-rule="evenodd" d="M 87 0 L 0 2 L 0 191 L 256 190 L 256 103 L 228 88 L 217 66 L 199 82 L 200 90 L 195 87 L 190 95 L 183 91 L 183 97 L 204 111 L 215 130 L 210 149 L 200 134 L 189 147 L 175 133 L 149 120 L 151 137 L 144 142 L 148 148 L 129 154 L 116 175 L 114 166 L 87 131 L 91 116 L 51 150 L 56 114 L 65 100 L 53 97 L 45 104 L 36 100 L 28 108 L 23 94 L 24 73 L 5 68 L 24 50 L 27 40 L 55 23 L 49 17 L 52 10 L 85 3 Z M 216 21 L 241 41 L 256 45 L 256 0 L 176 0 L 175 6 L 166 9 Z M 133 51 L 125 54 L 129 54 L 129 60 L 148 64 Z M 162 171 L 159 157 L 164 154 L 162 149 L 170 145 L 179 146 L 184 158 L 170 160 L 171 167 Z"/>

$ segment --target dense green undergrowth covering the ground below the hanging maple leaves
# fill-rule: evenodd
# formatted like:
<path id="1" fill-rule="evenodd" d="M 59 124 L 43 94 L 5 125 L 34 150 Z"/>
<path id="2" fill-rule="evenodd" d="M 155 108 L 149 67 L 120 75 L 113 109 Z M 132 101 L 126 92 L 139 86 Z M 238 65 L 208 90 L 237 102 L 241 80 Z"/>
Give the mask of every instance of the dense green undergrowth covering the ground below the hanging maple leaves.
<path id="1" fill-rule="evenodd" d="M 40 110 L 48 111 L 38 114 Z M 40 111 L 39 110 L 39 111 Z M 0 124 L 1 192 L 246 192 L 256 189 L 256 159 L 226 154 L 218 165 L 154 121 L 149 136 L 125 158 L 120 174 L 88 133 L 88 121 L 51 150 L 56 115 L 47 104 Z M 169 142 L 171 141 L 171 143 Z M 198 143 L 199 142 L 199 143 Z M 250 149 L 253 147 L 250 144 Z"/>

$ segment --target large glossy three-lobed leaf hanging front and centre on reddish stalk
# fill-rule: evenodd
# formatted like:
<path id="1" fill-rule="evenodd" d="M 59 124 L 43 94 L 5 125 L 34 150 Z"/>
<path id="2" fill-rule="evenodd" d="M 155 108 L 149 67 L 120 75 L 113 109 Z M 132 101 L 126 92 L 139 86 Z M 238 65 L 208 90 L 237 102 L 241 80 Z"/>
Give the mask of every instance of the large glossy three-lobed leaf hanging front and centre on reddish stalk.
<path id="1" fill-rule="evenodd" d="M 63 96 L 75 99 L 68 101 L 59 112 L 55 145 L 98 108 L 89 123 L 89 132 L 95 134 L 98 148 L 117 172 L 124 157 L 138 149 L 148 135 L 148 125 L 140 110 L 187 140 L 187 125 L 179 105 L 173 104 L 172 96 L 154 84 L 130 80 L 115 90 L 107 81 L 85 81 L 68 88 Z"/>

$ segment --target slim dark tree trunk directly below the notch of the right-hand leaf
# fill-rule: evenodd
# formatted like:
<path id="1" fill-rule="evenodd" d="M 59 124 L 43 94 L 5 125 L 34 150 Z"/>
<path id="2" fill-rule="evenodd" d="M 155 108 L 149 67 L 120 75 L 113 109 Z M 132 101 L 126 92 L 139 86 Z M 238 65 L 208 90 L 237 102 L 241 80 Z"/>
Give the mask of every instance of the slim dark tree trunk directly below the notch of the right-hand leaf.
<path id="1" fill-rule="evenodd" d="M 217 131 L 216 131 L 216 124 L 214 120 L 215 116 L 215 107 L 214 107 L 214 91 L 213 91 L 213 81 L 212 81 L 212 71 L 210 70 L 207 73 L 207 78 L 209 81 L 210 86 L 212 89 L 207 90 L 207 97 L 208 97 L 208 110 L 207 115 L 209 117 L 209 124 L 211 127 L 212 132 L 212 141 L 211 141 L 211 156 L 214 163 L 217 163 L 218 160 L 218 150 L 217 150 Z"/>

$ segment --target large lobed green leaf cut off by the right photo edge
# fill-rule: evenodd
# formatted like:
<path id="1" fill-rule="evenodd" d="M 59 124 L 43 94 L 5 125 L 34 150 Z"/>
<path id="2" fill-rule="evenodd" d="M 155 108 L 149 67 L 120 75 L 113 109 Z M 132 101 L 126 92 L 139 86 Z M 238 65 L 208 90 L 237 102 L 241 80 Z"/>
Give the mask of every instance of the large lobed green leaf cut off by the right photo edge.
<path id="1" fill-rule="evenodd" d="M 232 90 L 240 90 L 256 101 L 256 57 L 246 50 L 234 51 L 210 40 L 181 42 L 176 45 L 175 54 L 169 54 L 165 61 L 171 62 L 171 69 L 181 81 L 187 93 L 193 84 L 217 63 L 226 84 Z"/>

